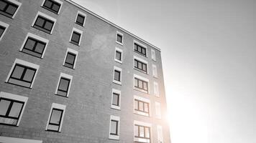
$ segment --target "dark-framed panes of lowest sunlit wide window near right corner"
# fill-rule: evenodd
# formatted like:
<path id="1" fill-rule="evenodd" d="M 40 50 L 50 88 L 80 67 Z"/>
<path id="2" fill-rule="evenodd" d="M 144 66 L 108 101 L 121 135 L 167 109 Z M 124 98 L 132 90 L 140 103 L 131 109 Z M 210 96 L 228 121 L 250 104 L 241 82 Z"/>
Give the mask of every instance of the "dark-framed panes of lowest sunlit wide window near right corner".
<path id="1" fill-rule="evenodd" d="M 143 139 L 150 140 L 150 127 L 140 126 L 135 124 L 134 125 L 134 137 L 139 137 Z"/>

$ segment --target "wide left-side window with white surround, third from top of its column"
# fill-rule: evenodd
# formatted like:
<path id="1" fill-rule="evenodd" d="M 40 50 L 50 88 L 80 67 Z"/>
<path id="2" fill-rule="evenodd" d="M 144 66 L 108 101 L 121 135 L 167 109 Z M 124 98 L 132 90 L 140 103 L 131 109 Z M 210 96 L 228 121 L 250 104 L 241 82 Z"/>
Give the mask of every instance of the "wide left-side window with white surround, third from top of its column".
<path id="1" fill-rule="evenodd" d="M 49 40 L 28 33 L 19 51 L 42 58 Z"/>

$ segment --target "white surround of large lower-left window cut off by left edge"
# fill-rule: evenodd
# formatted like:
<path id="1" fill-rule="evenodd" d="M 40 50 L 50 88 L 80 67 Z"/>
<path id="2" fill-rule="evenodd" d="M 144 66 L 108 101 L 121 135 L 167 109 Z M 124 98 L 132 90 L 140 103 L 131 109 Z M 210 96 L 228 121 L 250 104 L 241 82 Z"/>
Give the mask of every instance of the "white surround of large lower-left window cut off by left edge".
<path id="1" fill-rule="evenodd" d="M 28 97 L 23 97 L 23 96 L 20 96 L 20 95 L 17 95 L 17 94 L 10 94 L 10 93 L 7 93 L 7 92 L 0 92 L 0 97 L 6 98 L 6 99 L 17 100 L 19 102 L 24 102 L 22 112 L 19 115 L 19 120 L 18 120 L 17 125 L 16 125 L 16 126 L 19 126 L 20 120 L 22 119 L 22 114 L 24 112 L 24 109 L 25 109 L 26 104 L 27 104 L 27 100 L 29 98 Z M 0 142 L 1 142 L 1 140 L 0 140 Z"/>

